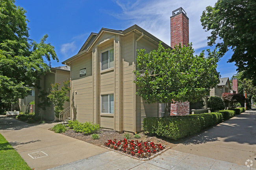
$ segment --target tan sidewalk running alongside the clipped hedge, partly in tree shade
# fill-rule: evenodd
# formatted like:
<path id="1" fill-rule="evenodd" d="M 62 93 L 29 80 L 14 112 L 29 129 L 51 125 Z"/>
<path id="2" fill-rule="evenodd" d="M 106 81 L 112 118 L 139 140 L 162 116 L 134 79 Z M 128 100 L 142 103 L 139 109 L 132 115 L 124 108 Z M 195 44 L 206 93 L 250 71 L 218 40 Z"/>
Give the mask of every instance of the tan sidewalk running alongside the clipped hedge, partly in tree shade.
<path id="1" fill-rule="evenodd" d="M 249 160 L 256 168 L 256 111 L 247 110 L 172 149 L 238 165 Z"/>

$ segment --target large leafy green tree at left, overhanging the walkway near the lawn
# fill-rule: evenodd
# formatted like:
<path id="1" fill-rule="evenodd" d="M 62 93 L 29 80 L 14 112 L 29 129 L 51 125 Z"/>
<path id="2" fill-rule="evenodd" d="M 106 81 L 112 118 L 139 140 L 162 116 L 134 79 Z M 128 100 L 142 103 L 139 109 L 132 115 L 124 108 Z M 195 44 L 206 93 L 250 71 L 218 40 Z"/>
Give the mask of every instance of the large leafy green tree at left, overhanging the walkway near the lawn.
<path id="1" fill-rule="evenodd" d="M 45 43 L 48 35 L 39 43 L 29 38 L 26 11 L 14 3 L 0 1 L 0 102 L 7 104 L 28 95 L 50 60 L 58 61 L 54 47 Z"/>

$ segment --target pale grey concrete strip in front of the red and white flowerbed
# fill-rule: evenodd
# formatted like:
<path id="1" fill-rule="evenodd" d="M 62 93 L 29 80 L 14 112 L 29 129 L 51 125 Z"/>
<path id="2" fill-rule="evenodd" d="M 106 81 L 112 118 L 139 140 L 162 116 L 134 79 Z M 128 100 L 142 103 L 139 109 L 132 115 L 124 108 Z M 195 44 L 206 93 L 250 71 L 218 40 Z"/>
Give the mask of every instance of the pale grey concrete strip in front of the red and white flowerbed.
<path id="1" fill-rule="evenodd" d="M 149 161 L 138 161 L 113 151 L 50 170 L 256 170 L 243 165 L 219 161 L 169 149 Z"/>

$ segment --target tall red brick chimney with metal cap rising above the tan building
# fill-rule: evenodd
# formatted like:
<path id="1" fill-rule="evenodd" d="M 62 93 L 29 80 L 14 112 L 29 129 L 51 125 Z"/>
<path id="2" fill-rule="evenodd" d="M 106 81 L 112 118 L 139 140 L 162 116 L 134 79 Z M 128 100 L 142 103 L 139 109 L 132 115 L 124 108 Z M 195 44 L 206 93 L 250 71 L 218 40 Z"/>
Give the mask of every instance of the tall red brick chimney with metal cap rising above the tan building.
<path id="1" fill-rule="evenodd" d="M 181 46 L 189 43 L 189 19 L 182 7 L 173 11 L 171 16 L 171 48 L 176 44 Z"/>

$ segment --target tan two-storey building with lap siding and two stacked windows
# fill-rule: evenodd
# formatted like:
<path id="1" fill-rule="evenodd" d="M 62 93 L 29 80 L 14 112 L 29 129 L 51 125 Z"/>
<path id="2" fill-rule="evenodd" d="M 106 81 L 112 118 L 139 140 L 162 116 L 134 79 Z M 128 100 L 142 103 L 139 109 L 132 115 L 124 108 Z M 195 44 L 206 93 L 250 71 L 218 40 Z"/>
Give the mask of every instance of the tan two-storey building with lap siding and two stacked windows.
<path id="1" fill-rule="evenodd" d="M 181 8 L 174 15 L 178 20 L 180 15 L 187 18 Z M 183 33 L 177 30 L 179 42 Z M 148 53 L 157 49 L 159 42 L 137 25 L 123 31 L 102 28 L 99 33 L 91 33 L 78 54 L 62 62 L 71 68 L 71 119 L 118 132 L 140 132 L 145 117 L 161 115 L 161 104 L 143 101 L 135 94 L 133 82 L 136 49 L 145 48 Z M 165 43 L 163 46 L 170 48 Z"/>

